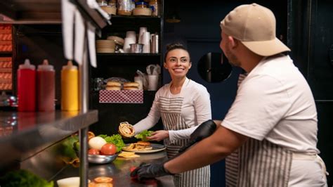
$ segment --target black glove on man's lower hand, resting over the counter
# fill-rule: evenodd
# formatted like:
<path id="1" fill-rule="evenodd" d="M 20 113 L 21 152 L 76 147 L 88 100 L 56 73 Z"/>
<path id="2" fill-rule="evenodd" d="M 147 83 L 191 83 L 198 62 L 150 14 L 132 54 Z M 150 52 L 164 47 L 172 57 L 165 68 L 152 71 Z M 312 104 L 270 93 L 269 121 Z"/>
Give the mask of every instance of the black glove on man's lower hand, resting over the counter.
<path id="1" fill-rule="evenodd" d="M 149 178 L 155 178 L 158 176 L 164 176 L 164 175 L 171 175 L 166 169 L 163 167 L 164 162 L 161 164 L 145 164 L 141 163 L 139 167 L 133 170 L 131 172 L 131 177 L 137 177 L 140 181 L 141 179 L 149 179 Z"/>

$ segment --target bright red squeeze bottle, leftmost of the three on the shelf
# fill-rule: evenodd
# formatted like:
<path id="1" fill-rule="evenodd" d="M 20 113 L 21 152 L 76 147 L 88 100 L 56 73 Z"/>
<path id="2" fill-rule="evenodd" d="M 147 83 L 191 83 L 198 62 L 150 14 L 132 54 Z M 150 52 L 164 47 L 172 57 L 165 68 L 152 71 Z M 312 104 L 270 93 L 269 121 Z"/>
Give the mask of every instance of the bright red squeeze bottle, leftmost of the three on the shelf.
<path id="1" fill-rule="evenodd" d="M 36 67 L 29 59 L 18 66 L 18 111 L 36 111 Z"/>

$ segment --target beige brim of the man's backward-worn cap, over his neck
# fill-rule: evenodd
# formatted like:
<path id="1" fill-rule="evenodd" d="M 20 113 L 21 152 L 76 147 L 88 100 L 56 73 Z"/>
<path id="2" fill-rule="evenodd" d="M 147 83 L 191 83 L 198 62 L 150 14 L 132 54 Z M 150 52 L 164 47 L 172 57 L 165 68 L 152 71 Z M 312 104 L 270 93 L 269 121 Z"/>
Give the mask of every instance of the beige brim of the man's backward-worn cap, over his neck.
<path id="1" fill-rule="evenodd" d="M 273 56 L 285 51 L 291 51 L 277 38 L 269 41 L 242 41 L 242 44 L 260 56 Z"/>

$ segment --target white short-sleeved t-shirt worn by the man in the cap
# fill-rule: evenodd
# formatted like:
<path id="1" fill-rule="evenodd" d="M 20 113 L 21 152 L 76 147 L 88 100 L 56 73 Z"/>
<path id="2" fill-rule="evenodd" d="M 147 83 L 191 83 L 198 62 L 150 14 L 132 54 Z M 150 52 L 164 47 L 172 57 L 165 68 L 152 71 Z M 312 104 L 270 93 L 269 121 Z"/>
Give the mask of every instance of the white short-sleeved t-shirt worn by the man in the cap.
<path id="1" fill-rule="evenodd" d="M 311 89 L 289 56 L 263 58 L 240 84 L 222 126 L 295 152 L 319 153 Z"/>

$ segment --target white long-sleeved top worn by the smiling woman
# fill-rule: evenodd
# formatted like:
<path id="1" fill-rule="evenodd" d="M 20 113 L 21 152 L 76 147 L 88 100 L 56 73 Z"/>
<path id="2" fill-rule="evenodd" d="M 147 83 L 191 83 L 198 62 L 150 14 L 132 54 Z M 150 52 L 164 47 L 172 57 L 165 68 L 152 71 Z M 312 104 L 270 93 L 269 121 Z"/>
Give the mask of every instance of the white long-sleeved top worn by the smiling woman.
<path id="1" fill-rule="evenodd" d="M 183 97 L 183 104 L 181 106 L 181 117 L 185 120 L 185 124 L 190 127 L 189 129 L 183 129 L 178 131 L 169 131 L 169 139 L 186 139 L 190 138 L 190 134 L 198 127 L 199 124 L 207 120 L 211 120 L 211 103 L 209 93 L 207 89 L 188 78 L 181 88 L 181 93 L 176 95 L 170 91 L 171 84 L 165 84 L 155 94 L 152 108 L 145 119 L 134 125 L 136 134 L 145 129 L 152 128 L 161 117 L 161 111 L 159 109 L 159 98 L 178 98 Z"/>

